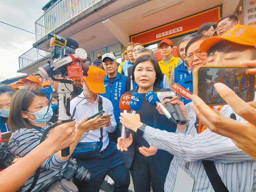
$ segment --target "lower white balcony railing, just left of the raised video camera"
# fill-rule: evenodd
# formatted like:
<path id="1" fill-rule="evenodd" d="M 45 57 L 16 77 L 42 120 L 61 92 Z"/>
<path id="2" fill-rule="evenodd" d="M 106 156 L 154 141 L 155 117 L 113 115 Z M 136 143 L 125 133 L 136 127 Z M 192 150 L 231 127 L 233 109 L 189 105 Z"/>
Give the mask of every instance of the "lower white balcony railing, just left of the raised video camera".
<path id="1" fill-rule="evenodd" d="M 49 57 L 50 54 L 50 52 L 39 50 L 33 47 L 19 57 L 19 68 L 23 69 L 43 57 Z"/>

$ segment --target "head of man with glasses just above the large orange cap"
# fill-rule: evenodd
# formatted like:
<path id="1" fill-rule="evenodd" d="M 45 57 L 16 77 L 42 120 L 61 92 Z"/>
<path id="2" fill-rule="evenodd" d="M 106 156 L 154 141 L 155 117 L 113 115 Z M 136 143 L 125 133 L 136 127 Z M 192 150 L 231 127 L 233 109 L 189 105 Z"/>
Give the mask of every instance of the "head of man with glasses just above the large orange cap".
<path id="1" fill-rule="evenodd" d="M 223 18 L 220 18 L 219 21 L 217 21 L 217 27 L 216 32 L 218 36 L 222 36 L 224 33 L 226 33 L 227 30 L 229 30 L 234 25 L 238 24 L 238 17 L 236 15 L 229 15 Z"/>

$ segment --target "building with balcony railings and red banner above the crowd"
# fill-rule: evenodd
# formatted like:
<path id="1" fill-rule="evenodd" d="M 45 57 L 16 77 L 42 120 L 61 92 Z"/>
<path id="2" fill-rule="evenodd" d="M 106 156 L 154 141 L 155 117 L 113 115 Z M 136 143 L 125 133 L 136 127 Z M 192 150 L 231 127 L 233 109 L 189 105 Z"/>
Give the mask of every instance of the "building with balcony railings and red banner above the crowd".
<path id="1" fill-rule="evenodd" d="M 205 22 L 234 13 L 243 20 L 242 6 L 243 0 L 50 0 L 35 22 L 36 42 L 19 57 L 18 72 L 34 73 L 50 60 L 48 34 L 75 39 L 91 60 L 112 51 L 120 63 L 130 41 L 152 50 L 165 38 L 177 45 Z"/>

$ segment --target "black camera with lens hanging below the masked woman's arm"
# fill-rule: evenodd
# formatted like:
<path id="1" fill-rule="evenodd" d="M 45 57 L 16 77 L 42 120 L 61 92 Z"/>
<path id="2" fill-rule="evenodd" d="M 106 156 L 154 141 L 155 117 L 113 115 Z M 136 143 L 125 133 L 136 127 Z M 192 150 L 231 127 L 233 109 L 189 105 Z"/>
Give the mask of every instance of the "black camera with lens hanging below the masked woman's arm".
<path id="1" fill-rule="evenodd" d="M 73 176 L 79 181 L 89 181 L 91 174 L 90 170 L 86 169 L 85 167 L 79 165 L 76 162 L 76 159 L 70 158 L 68 160 L 68 165 L 62 172 L 63 177 L 66 178 L 67 180 L 71 180 Z"/>

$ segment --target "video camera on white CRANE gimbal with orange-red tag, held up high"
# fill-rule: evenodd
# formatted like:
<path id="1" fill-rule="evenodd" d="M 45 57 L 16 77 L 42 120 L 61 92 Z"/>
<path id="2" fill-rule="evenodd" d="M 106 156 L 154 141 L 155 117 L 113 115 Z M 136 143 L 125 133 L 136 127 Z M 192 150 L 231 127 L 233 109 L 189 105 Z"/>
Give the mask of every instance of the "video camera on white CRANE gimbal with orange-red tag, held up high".
<path id="1" fill-rule="evenodd" d="M 50 46 L 53 46 L 52 59 L 59 59 L 52 64 L 48 64 L 38 68 L 39 74 L 43 78 L 60 82 L 58 84 L 59 96 L 59 120 L 62 123 L 72 121 L 72 116 L 69 112 L 70 100 L 73 92 L 73 81 L 70 79 L 83 78 L 87 76 L 89 65 L 84 62 L 87 59 L 87 53 L 84 49 L 78 48 L 78 43 L 71 38 L 63 38 L 55 34 L 48 34 L 48 38 L 52 37 Z M 69 80 L 64 77 L 68 74 Z M 55 75 L 60 75 L 61 79 L 55 78 Z M 62 149 L 62 156 L 69 155 L 69 147 Z"/>

